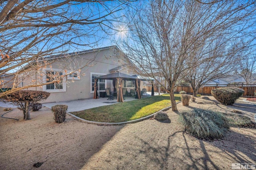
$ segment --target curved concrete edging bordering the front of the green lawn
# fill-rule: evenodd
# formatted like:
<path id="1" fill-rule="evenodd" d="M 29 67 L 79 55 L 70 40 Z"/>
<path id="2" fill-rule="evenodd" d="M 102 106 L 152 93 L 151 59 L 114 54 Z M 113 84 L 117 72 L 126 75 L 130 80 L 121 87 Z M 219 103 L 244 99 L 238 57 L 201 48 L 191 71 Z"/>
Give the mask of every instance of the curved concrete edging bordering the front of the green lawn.
<path id="1" fill-rule="evenodd" d="M 176 102 L 176 104 L 180 103 L 181 101 L 179 102 Z M 172 106 L 168 106 L 168 107 L 165 107 L 164 109 L 161 109 L 159 111 L 166 111 L 168 109 L 172 108 Z M 158 111 L 157 111 L 158 112 Z M 156 113 L 157 113 L 156 112 Z M 153 117 L 156 113 L 153 113 L 151 115 L 148 115 L 146 117 L 142 117 L 140 119 L 136 119 L 136 120 L 131 120 L 131 121 L 123 121 L 123 122 L 116 122 L 116 123 L 108 123 L 108 122 L 98 122 L 98 121 L 89 121 L 89 120 L 85 120 L 85 119 L 82 119 L 81 117 L 78 117 L 76 115 L 73 115 L 72 113 L 69 113 L 67 112 L 68 115 L 80 120 L 80 121 L 83 121 L 83 122 L 86 122 L 86 123 L 92 123 L 92 124 L 98 124 L 98 125 L 122 125 L 122 124 L 127 124 L 127 123 L 136 123 L 136 122 L 139 122 L 139 121 L 142 121 L 142 120 L 145 120 L 145 119 L 148 119 L 150 117 Z"/>

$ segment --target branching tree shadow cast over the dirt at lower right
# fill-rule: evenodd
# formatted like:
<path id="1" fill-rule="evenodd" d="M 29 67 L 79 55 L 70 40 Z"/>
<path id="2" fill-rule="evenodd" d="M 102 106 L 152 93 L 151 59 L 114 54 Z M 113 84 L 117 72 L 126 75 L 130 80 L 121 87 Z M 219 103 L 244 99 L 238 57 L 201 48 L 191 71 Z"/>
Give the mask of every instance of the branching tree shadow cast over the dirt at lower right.
<path id="1" fill-rule="evenodd" d="M 176 135 L 182 138 L 177 139 Z M 140 139 L 145 145 L 140 150 L 140 154 L 144 154 L 148 159 L 147 162 L 154 162 L 156 167 L 163 170 L 180 168 L 208 170 L 231 168 L 232 163 L 255 163 L 252 161 L 256 160 L 256 153 L 252 152 L 256 150 L 255 138 L 248 135 L 230 131 L 223 140 L 207 142 L 195 138 L 196 145 L 190 143 L 191 138 L 194 137 L 188 136 L 184 131 L 176 131 L 168 137 L 164 147 Z M 176 140 L 179 143 L 174 142 Z M 216 149 L 209 150 L 209 146 Z"/>

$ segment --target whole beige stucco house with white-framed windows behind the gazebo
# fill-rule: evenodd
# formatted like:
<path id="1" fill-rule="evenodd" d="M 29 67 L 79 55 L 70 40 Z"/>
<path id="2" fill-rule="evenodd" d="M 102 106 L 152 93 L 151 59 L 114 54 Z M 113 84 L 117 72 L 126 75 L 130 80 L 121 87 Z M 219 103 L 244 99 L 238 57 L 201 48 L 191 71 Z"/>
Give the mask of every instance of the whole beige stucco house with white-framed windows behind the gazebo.
<path id="1" fill-rule="evenodd" d="M 93 98 L 94 78 L 98 76 L 112 72 L 136 74 L 134 70 L 131 71 L 126 66 L 124 55 L 116 46 L 70 53 L 67 56 L 49 57 L 47 59 L 48 64 L 42 70 L 43 74 L 38 71 L 26 71 L 26 75 L 29 74 L 29 76 L 20 74 L 19 77 L 22 78 L 22 81 L 19 82 L 19 86 L 46 83 L 50 81 L 47 74 L 63 75 L 59 82 L 24 89 L 50 92 L 50 96 L 43 103 L 62 102 Z M 66 75 L 70 72 L 73 73 Z M 128 91 L 134 88 L 134 81 L 132 80 L 124 80 L 122 84 L 123 87 L 128 88 Z M 142 85 L 140 86 L 142 87 Z M 114 89 L 112 80 L 98 81 L 97 88 L 99 96 L 100 92 L 105 92 L 105 88 L 111 88 L 111 91 Z"/>

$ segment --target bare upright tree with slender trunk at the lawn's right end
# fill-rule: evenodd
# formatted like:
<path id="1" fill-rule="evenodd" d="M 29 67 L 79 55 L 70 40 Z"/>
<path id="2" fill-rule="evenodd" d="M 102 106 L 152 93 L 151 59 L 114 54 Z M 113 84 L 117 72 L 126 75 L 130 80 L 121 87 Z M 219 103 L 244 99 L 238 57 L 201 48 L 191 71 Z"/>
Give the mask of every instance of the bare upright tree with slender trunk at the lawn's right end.
<path id="1" fill-rule="evenodd" d="M 255 1 L 202 4 L 195 0 L 152 0 L 138 10 L 136 16 L 130 14 L 128 17 L 131 18 L 130 32 L 128 38 L 122 40 L 121 49 L 140 72 L 158 83 L 167 82 L 168 87 L 162 88 L 170 93 L 172 110 L 177 111 L 176 86 L 187 76 L 188 70 L 200 68 L 200 64 L 206 63 L 212 55 L 223 52 L 221 56 L 232 56 L 228 51 L 236 47 L 234 39 L 254 24 L 249 20 L 255 16 L 254 7 Z M 245 23 L 241 27 L 246 28 L 236 30 L 239 23 Z M 222 66 L 224 59 L 215 59 Z"/>

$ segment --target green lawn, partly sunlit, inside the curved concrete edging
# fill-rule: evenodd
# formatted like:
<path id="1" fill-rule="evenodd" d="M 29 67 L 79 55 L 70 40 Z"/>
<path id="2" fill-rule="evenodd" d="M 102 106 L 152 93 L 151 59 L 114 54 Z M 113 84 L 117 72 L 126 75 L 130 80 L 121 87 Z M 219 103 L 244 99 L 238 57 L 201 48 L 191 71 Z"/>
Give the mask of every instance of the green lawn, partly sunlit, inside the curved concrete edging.
<path id="1" fill-rule="evenodd" d="M 175 100 L 180 101 L 179 94 L 175 94 Z M 123 122 L 151 115 L 170 105 L 169 94 L 164 94 L 71 113 L 89 121 Z"/>

